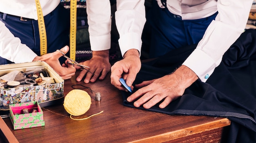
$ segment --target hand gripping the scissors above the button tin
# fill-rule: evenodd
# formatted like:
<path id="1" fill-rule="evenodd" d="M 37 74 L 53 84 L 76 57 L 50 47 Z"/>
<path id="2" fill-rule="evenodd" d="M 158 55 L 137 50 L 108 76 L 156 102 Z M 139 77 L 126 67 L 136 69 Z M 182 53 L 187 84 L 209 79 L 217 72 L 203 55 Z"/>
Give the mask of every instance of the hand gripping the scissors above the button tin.
<path id="1" fill-rule="evenodd" d="M 61 48 L 61 51 L 65 54 L 68 52 L 69 47 L 65 46 Z M 45 61 L 48 65 L 50 65 L 57 73 L 61 76 L 61 78 L 69 79 L 74 76 L 76 69 L 72 65 L 68 65 L 68 67 L 61 66 L 61 63 L 58 59 L 63 56 L 60 52 L 52 52 L 48 54 L 44 54 L 43 56 L 36 56 L 33 61 Z"/>

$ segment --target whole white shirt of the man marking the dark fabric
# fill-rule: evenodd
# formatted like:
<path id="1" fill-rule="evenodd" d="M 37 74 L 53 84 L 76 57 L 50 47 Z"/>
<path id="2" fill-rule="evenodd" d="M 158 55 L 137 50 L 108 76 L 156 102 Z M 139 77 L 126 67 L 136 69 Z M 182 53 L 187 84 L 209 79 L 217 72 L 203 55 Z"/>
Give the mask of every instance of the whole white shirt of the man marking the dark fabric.
<path id="1" fill-rule="evenodd" d="M 168 10 L 182 16 L 183 20 L 208 17 L 216 11 L 216 20 L 208 26 L 197 48 L 184 61 L 203 82 L 207 81 L 220 64 L 223 54 L 244 31 L 253 0 L 167 0 Z M 160 7 L 162 3 L 157 0 Z M 117 0 L 116 25 L 119 30 L 119 45 L 124 53 L 141 47 L 143 30 L 144 1 Z M 171 72 L 171 71 L 170 71 Z"/>

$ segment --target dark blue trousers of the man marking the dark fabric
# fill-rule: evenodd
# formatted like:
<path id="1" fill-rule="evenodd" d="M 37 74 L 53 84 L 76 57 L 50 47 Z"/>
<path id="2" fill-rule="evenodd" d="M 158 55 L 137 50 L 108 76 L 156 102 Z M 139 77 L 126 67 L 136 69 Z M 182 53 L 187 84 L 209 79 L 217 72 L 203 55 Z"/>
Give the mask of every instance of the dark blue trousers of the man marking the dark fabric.
<path id="1" fill-rule="evenodd" d="M 218 13 L 198 20 L 182 20 L 168 9 L 160 8 L 156 0 L 147 13 L 151 26 L 150 58 L 155 58 L 173 49 L 198 43 L 209 24 Z"/>

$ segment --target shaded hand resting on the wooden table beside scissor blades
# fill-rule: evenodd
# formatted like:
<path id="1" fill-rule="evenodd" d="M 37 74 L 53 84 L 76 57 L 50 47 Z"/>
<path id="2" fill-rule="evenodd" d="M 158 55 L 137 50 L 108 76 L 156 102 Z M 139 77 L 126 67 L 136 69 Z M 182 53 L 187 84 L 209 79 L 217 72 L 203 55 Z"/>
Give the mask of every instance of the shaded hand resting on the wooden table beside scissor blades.
<path id="1" fill-rule="evenodd" d="M 84 76 L 85 83 L 95 82 L 98 77 L 99 80 L 103 80 L 110 71 L 111 67 L 109 63 L 109 50 L 92 51 L 92 58 L 79 64 L 90 67 L 87 69 L 94 73 L 94 75 L 83 69 L 83 71 L 80 72 L 79 76 L 76 78 L 76 81 L 81 81 Z M 76 68 L 81 69 L 80 67 Z"/>

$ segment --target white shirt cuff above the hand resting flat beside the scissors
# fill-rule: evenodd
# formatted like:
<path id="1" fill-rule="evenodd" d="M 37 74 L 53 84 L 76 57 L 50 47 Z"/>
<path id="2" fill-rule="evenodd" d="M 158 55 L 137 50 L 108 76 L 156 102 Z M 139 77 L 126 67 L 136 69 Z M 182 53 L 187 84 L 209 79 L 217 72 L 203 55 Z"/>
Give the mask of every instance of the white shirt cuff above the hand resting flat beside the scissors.
<path id="1" fill-rule="evenodd" d="M 92 51 L 109 50 L 111 45 L 111 36 L 91 36 L 90 35 L 90 45 Z"/>

